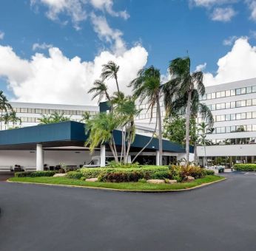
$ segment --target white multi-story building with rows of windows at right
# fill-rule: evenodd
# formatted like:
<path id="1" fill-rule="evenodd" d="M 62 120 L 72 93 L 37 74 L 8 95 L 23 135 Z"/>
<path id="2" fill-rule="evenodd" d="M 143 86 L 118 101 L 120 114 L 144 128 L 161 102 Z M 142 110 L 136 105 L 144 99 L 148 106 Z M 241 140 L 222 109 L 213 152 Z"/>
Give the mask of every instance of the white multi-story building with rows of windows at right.
<path id="1" fill-rule="evenodd" d="M 207 165 L 227 168 L 255 163 L 256 78 L 206 87 L 201 102 L 212 110 L 215 130 L 206 136 L 206 147 L 198 146 L 199 158 L 206 157 Z"/>

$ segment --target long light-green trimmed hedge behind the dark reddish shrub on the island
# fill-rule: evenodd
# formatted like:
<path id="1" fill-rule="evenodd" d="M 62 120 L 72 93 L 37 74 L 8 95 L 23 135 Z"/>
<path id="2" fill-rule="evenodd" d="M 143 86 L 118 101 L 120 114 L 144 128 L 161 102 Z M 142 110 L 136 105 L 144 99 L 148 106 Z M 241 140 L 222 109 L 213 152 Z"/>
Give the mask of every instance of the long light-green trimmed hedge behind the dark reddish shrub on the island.
<path id="1" fill-rule="evenodd" d="M 132 173 L 139 172 L 142 173 L 142 178 L 150 179 L 153 173 L 158 171 L 169 171 L 168 167 L 158 167 L 158 166 L 146 166 L 141 168 L 81 168 L 78 172 L 82 173 L 82 177 L 85 179 L 97 178 L 98 176 L 104 176 L 106 173 Z"/>

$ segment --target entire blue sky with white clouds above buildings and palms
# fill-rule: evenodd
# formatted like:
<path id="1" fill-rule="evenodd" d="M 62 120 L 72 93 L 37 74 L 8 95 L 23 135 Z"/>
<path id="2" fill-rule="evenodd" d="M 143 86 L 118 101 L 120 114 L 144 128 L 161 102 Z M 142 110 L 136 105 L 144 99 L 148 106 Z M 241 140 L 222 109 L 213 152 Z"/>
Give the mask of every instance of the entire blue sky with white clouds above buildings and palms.
<path id="1" fill-rule="evenodd" d="M 0 89 L 10 100 L 95 105 L 102 65 L 121 90 L 189 55 L 206 86 L 256 78 L 256 0 L 1 0 Z M 110 92 L 115 83 L 107 81 Z"/>

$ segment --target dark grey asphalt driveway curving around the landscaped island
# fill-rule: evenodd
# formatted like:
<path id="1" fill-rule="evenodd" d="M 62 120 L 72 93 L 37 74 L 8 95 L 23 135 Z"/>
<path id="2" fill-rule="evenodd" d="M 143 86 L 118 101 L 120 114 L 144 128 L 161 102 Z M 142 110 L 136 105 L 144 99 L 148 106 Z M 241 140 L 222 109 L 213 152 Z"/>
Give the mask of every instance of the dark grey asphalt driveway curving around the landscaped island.
<path id="1" fill-rule="evenodd" d="M 185 193 L 0 182 L 0 250 L 256 250 L 256 175 Z"/>

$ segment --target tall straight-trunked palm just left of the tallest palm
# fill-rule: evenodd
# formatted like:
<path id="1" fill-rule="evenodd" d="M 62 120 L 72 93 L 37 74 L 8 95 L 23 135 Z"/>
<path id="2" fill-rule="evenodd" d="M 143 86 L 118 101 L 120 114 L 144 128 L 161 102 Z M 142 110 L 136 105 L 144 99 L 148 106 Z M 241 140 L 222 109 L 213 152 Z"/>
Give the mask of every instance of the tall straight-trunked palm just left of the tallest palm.
<path id="1" fill-rule="evenodd" d="M 151 109 L 151 119 L 153 109 L 156 106 L 157 109 L 157 121 L 158 121 L 158 141 L 159 141 L 159 165 L 163 162 L 163 145 L 162 145 L 162 121 L 161 121 L 161 74 L 159 69 L 155 69 L 154 66 L 141 69 L 138 72 L 138 77 L 132 80 L 129 84 L 132 86 L 134 96 L 140 98 L 141 103 L 143 100 L 147 100 L 149 109 Z"/>

